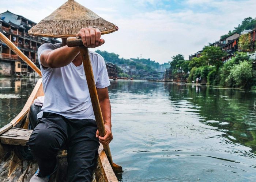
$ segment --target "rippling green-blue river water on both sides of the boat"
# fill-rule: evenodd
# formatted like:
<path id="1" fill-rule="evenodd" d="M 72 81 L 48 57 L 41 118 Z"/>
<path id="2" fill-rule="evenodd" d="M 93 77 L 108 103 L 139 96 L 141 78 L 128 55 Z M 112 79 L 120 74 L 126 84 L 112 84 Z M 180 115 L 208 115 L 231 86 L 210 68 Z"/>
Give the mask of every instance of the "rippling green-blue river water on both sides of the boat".
<path id="1" fill-rule="evenodd" d="M 0 79 L 1 127 L 36 81 Z M 120 181 L 256 180 L 256 92 L 118 80 L 109 95 Z"/>

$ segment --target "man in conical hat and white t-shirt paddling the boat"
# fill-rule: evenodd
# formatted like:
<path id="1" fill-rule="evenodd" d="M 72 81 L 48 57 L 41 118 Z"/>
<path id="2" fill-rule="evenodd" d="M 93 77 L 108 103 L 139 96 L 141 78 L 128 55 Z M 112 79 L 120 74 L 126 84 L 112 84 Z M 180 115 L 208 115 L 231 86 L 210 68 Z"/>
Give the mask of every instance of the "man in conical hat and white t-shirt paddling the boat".
<path id="1" fill-rule="evenodd" d="M 90 15 L 94 20 L 96 18 L 96 24 L 99 21 L 97 20 L 99 19 L 98 15 L 73 0 L 64 3 L 45 19 L 49 21 L 53 17 L 52 15 L 56 13 L 57 16 L 54 16 L 54 18 L 58 19 L 62 12 L 64 12 L 64 17 L 67 17 L 66 11 L 68 9 L 71 9 L 69 18 L 77 18 L 75 15 L 77 10 L 79 12 L 77 16 L 81 16 L 81 11 L 84 11 L 84 16 Z M 40 23 L 45 23 L 44 20 Z M 100 18 L 100 20 L 102 21 L 103 19 Z M 49 22 L 50 26 L 53 26 L 53 21 L 55 20 Z M 63 21 L 70 23 L 70 20 Z M 73 23 L 70 26 L 71 29 L 74 28 L 74 22 L 71 21 L 71 24 Z M 37 35 L 35 30 L 38 27 L 40 28 L 40 23 L 35 25 L 34 29 L 31 28 L 29 33 L 32 32 L 31 34 Z M 75 23 L 78 24 L 78 22 Z M 46 24 L 46 26 L 49 25 Z M 112 26 L 112 28 L 114 27 Z M 99 47 L 105 43 L 101 39 L 101 31 L 99 30 L 101 28 L 99 25 L 98 27 L 90 25 L 87 28 L 81 28 L 77 36 L 82 38 L 84 46 L 89 48 Z M 50 36 L 61 37 L 62 43 L 43 44 L 38 49 L 45 101 L 42 111 L 38 114 L 37 126 L 27 142 L 39 166 L 38 171 L 31 178 L 31 182 L 49 180 L 49 176 L 58 167 L 57 153 L 63 148 L 68 151 L 68 181 L 91 181 L 99 142 L 103 145 L 108 145 L 113 139 L 111 132 L 111 106 L 108 95 L 110 82 L 104 59 L 97 53 L 89 52 L 106 129 L 106 135 L 100 137 L 95 123 L 79 48 L 67 47 L 67 38 L 61 36 L 61 33 L 66 30 L 67 27 L 60 33 L 52 30 L 55 32 L 47 34 L 46 32 L 50 31 L 50 27 L 49 29 L 44 27 L 41 31 L 46 36 L 52 34 Z M 70 34 L 72 35 L 72 33 Z"/>

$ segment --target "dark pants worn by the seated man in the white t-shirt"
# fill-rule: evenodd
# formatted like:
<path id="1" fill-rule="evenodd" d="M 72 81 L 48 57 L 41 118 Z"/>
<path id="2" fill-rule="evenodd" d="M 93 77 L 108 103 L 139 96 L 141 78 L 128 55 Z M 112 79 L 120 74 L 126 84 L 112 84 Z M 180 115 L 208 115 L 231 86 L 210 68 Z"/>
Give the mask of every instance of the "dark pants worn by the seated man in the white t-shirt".
<path id="1" fill-rule="evenodd" d="M 44 112 L 27 142 L 38 162 L 40 175 L 51 174 L 56 166 L 58 151 L 67 148 L 68 181 L 91 181 L 99 147 L 96 131 L 95 120 L 67 119 Z"/>

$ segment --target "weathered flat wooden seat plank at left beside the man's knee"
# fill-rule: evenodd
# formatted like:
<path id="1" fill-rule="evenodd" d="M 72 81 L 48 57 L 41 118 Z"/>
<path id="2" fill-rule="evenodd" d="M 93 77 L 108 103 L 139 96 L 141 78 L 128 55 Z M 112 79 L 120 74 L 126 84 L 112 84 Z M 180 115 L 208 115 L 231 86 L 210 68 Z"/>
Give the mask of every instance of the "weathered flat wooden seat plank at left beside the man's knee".
<path id="1" fill-rule="evenodd" d="M 21 128 L 11 128 L 0 136 L 0 141 L 2 144 L 26 146 L 26 142 L 29 140 L 32 131 L 33 130 Z"/>

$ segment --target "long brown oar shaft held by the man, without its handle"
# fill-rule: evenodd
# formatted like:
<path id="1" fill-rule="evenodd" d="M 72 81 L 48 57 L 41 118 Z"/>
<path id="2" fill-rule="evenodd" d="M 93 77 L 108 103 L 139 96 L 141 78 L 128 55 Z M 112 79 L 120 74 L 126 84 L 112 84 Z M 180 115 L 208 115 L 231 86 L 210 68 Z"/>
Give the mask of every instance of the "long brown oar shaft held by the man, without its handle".
<path id="1" fill-rule="evenodd" d="M 89 50 L 88 47 L 80 46 L 80 53 L 82 56 L 82 61 L 83 61 L 83 67 L 84 67 L 84 73 L 86 76 L 86 82 L 89 88 L 89 93 L 91 97 L 91 104 L 93 106 L 93 112 L 96 120 L 96 124 L 99 130 L 99 135 L 101 137 L 104 137 L 106 134 L 105 130 L 105 125 L 102 117 L 102 112 L 101 112 L 101 107 L 99 105 L 99 99 L 98 99 L 98 94 L 94 82 L 94 76 L 93 76 L 93 68 L 91 66 L 91 60 L 89 56 Z M 109 145 L 103 145 L 103 148 L 105 150 L 105 153 L 109 159 L 109 163 L 111 166 L 113 166 L 113 160 L 112 160 L 112 155 L 110 152 Z"/>

